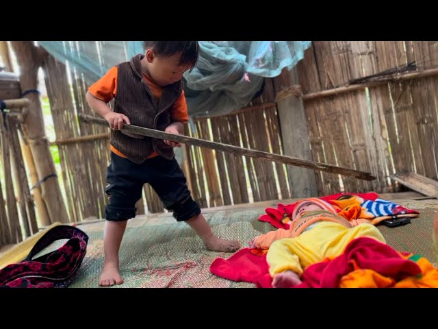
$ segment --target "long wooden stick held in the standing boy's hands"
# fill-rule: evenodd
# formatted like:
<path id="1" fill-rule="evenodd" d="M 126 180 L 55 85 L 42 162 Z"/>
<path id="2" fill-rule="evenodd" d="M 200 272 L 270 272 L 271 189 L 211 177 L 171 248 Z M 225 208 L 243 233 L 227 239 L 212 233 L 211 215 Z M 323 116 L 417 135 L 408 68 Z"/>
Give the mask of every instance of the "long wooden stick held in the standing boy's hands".
<path id="1" fill-rule="evenodd" d="M 91 123 L 98 123 L 100 125 L 108 125 L 107 121 L 97 117 L 92 117 L 86 114 L 79 114 L 79 119 Z M 158 139 L 166 139 L 168 141 L 174 141 L 178 143 L 190 144 L 199 147 L 207 147 L 209 149 L 216 149 L 217 151 L 228 152 L 232 154 L 238 154 L 240 156 L 250 156 L 253 158 L 262 158 L 274 162 L 280 162 L 285 164 L 292 164 L 293 166 L 305 167 L 320 171 L 328 171 L 329 173 L 339 173 L 340 175 L 347 175 L 358 178 L 360 180 L 375 180 L 376 178 L 370 173 L 363 171 L 357 171 L 355 169 L 348 169 L 343 167 L 337 167 L 331 164 L 325 164 L 321 162 L 315 162 L 310 160 L 301 160 L 298 158 L 292 158 L 290 156 L 281 156 L 279 154 L 271 154 L 268 152 L 257 151 L 255 149 L 244 149 L 243 147 L 237 147 L 233 145 L 226 145 L 222 143 L 216 143 L 211 141 L 205 141 L 203 139 L 192 138 L 183 135 L 168 134 L 159 130 L 153 130 L 144 127 L 138 127 L 136 125 L 123 125 L 122 130 L 126 132 L 132 132 L 142 136 L 148 136 Z"/>

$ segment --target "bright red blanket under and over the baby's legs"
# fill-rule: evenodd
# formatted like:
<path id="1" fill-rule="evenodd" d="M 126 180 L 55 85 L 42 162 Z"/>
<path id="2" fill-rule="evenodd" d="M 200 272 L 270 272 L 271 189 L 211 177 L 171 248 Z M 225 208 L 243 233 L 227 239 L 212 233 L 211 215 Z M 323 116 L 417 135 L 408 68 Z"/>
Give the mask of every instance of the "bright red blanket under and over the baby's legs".
<path id="1" fill-rule="evenodd" d="M 430 264 L 424 266 L 425 258 L 414 255 L 407 259 L 402 255 L 407 254 L 396 252 L 385 243 L 367 237 L 357 238 L 347 245 L 342 255 L 307 267 L 302 273 L 302 283 L 294 288 L 339 287 L 342 278 L 346 278 L 349 273 L 357 269 L 372 270 L 385 278 L 390 278 L 392 287 L 397 287 L 396 282 L 401 280 L 409 281 L 407 278 L 413 282 L 409 287 L 421 287 L 420 284 L 415 284 L 415 280 L 419 282 L 422 280 L 422 287 L 426 287 L 424 284 L 427 285 L 427 282 L 430 283 L 428 287 L 437 287 L 438 271 L 432 269 Z M 423 260 L 423 268 L 420 268 L 419 260 Z M 220 278 L 237 282 L 253 282 L 257 287 L 272 288 L 266 252 L 242 249 L 227 260 L 216 258 L 211 264 L 210 271 Z"/>

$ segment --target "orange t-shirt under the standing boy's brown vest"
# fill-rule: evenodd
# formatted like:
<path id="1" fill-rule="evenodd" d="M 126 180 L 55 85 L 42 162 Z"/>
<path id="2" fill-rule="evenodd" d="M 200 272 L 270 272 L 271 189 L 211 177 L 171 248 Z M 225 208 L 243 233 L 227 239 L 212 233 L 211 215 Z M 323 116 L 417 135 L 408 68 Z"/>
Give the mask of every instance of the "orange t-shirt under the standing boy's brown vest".
<path id="1" fill-rule="evenodd" d="M 157 102 L 159 102 L 159 99 L 163 95 L 164 88 L 161 86 L 158 86 L 153 82 L 153 80 L 148 77 L 144 72 L 142 72 L 144 82 L 148 85 L 149 89 L 151 90 L 152 95 L 157 99 Z M 105 101 L 105 103 L 108 103 L 111 101 L 115 96 L 117 92 L 117 66 L 112 67 L 108 72 L 103 75 L 99 80 L 94 82 L 88 88 L 88 91 L 91 95 L 94 97 L 100 99 L 101 101 Z M 187 103 L 185 103 L 185 95 L 184 90 L 181 93 L 181 96 L 178 97 L 178 99 L 175 101 L 172 107 L 172 111 L 170 112 L 170 117 L 173 121 L 180 121 L 182 123 L 185 123 L 189 120 L 189 114 L 187 111 Z M 121 156 L 122 158 L 127 158 L 125 154 L 118 151 L 116 147 L 111 145 L 111 151 L 113 151 L 118 156 Z M 149 158 L 153 158 L 154 156 L 158 156 L 157 152 L 153 152 Z"/>

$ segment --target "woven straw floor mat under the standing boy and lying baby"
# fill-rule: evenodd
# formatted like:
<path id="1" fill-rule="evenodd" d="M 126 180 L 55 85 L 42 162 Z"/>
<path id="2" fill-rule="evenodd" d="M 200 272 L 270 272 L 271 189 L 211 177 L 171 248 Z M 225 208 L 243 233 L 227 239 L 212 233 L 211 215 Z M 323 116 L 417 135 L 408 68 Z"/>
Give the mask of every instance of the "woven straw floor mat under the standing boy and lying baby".
<path id="1" fill-rule="evenodd" d="M 437 259 L 432 249 L 431 234 L 435 202 L 400 202 L 420 211 L 420 217 L 398 228 L 379 225 L 387 243 L 398 251 L 420 254 L 431 263 Z M 259 234 L 276 230 L 269 223 L 258 221 L 263 210 L 220 210 L 205 214 L 213 232 L 224 239 L 237 239 L 242 247 Z M 170 216 L 170 215 L 168 215 Z M 103 263 L 102 223 L 78 226 L 90 237 L 87 254 L 72 288 L 99 287 Z M 47 248 L 55 249 L 59 245 Z M 247 282 L 234 282 L 214 276 L 209 266 L 218 257 L 232 254 L 211 252 L 185 223 L 147 225 L 146 221 L 131 219 L 120 249 L 120 271 L 125 280 L 114 288 L 133 287 L 255 287 Z"/>

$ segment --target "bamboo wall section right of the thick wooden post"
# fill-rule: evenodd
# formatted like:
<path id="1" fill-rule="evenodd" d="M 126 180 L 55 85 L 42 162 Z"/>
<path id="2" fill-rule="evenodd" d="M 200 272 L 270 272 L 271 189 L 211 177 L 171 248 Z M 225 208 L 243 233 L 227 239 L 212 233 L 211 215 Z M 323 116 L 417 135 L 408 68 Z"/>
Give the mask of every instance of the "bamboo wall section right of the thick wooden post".
<path id="1" fill-rule="evenodd" d="M 437 180 L 437 75 L 394 78 L 378 86 L 327 97 L 312 93 L 415 61 L 437 68 L 437 42 L 313 42 L 298 72 L 309 119 L 313 160 L 370 171 L 363 182 L 318 173 L 321 195 L 338 191 L 398 191 L 391 175 L 414 171 Z M 414 72 L 415 72 L 414 71 Z M 317 94 L 318 95 L 318 94 Z M 315 94 L 313 94 L 315 96 Z M 307 98 L 306 98 L 307 97 Z"/>

